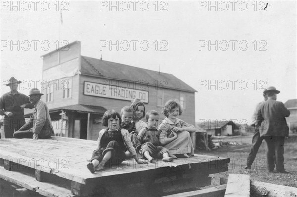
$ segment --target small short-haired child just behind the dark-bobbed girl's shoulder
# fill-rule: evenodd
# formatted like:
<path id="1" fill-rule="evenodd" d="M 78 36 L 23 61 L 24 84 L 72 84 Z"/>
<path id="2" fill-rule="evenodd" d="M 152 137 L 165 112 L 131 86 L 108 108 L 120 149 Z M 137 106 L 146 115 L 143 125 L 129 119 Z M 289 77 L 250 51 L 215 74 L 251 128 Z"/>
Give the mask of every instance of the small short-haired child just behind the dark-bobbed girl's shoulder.
<path id="1" fill-rule="evenodd" d="M 122 118 L 121 128 L 126 129 L 129 132 L 129 137 L 133 144 L 133 147 L 136 150 L 137 157 L 140 158 L 141 155 L 139 153 L 139 150 L 141 149 L 141 143 L 137 138 L 138 132 L 136 131 L 136 128 L 133 122 L 133 114 L 134 114 L 134 111 L 129 106 L 125 106 L 121 109 L 121 118 Z M 131 154 L 128 150 L 126 150 L 125 154 L 127 158 L 131 157 Z"/>

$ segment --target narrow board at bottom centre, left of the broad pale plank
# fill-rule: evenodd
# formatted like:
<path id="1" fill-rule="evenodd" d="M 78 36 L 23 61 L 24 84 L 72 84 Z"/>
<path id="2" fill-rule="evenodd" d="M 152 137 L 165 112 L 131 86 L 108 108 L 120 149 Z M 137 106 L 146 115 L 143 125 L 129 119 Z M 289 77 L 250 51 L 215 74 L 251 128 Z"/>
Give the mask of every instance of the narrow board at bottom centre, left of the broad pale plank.
<path id="1" fill-rule="evenodd" d="M 224 197 L 227 184 L 216 187 L 167 195 L 163 197 Z"/>

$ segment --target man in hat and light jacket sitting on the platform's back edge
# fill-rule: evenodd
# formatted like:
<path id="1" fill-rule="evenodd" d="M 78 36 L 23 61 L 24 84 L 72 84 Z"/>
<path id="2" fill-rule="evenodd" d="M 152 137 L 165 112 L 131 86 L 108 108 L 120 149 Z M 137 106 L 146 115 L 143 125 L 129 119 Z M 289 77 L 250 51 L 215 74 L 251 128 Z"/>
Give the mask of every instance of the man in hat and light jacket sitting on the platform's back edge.
<path id="1" fill-rule="evenodd" d="M 33 88 L 29 92 L 29 100 L 35 110 L 32 118 L 13 134 L 14 138 L 50 138 L 54 135 L 48 106 L 40 100 L 40 91 Z"/>

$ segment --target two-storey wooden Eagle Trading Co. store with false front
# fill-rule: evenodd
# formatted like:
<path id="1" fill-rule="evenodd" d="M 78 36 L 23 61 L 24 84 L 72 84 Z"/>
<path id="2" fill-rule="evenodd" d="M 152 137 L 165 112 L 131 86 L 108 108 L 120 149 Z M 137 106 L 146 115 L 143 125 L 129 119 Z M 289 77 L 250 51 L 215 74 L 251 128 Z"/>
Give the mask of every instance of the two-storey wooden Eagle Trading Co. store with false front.
<path id="1" fill-rule="evenodd" d="M 81 43 L 45 54 L 42 100 L 49 107 L 58 136 L 97 140 L 106 110 L 140 98 L 146 111 L 161 109 L 169 99 L 184 108 L 181 118 L 195 124 L 195 89 L 174 75 L 81 55 Z"/>

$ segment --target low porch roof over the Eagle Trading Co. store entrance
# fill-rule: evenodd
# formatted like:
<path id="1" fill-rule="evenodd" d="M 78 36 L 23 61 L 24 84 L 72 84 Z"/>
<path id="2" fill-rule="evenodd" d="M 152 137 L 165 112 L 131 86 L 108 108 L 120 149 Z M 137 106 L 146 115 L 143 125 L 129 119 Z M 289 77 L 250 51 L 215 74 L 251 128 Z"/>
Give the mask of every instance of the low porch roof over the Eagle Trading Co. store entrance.
<path id="1" fill-rule="evenodd" d="M 55 112 L 55 111 L 61 111 L 61 110 L 86 112 L 86 113 L 92 113 L 92 114 L 104 114 L 107 111 L 105 108 L 101 106 L 76 104 L 76 105 L 68 105 L 65 107 L 49 109 L 49 112 Z M 25 113 L 25 116 L 30 116 L 33 114 L 33 110 L 25 109 L 24 113 Z"/>

